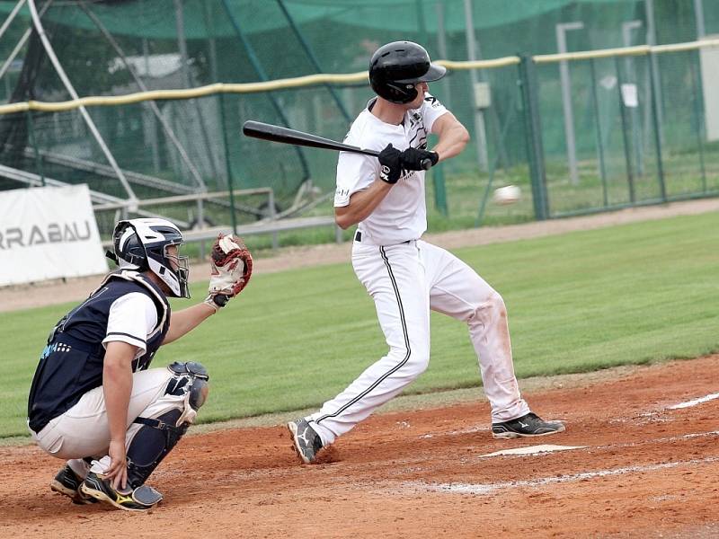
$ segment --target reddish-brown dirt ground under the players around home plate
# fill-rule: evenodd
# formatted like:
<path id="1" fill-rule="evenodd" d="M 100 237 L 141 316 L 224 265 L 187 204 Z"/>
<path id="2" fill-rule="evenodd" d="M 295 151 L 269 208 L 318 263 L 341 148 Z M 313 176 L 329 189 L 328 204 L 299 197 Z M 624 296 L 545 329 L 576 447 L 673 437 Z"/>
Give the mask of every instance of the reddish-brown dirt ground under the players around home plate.
<path id="1" fill-rule="evenodd" d="M 717 359 L 526 392 L 567 421 L 553 437 L 493 440 L 486 402 L 375 415 L 315 465 L 281 426 L 189 436 L 148 515 L 74 506 L 49 490 L 58 460 L 3 447 L 0 536 L 716 537 Z M 490 455 L 540 445 L 564 450 Z"/>

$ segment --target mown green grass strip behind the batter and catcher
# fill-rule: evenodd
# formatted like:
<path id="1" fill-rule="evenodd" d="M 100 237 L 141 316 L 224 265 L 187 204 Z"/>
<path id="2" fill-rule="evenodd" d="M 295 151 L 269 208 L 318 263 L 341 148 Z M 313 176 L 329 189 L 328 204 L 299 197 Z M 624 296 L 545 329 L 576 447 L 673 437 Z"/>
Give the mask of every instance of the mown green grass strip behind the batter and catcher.
<path id="1" fill-rule="evenodd" d="M 685 216 L 457 250 L 504 296 L 519 377 L 719 350 L 719 216 Z M 205 287 L 192 288 L 194 300 Z M 175 308 L 188 305 L 174 301 Z M 73 305 L 0 314 L 0 437 L 24 436 L 26 397 L 52 325 Z M 432 315 L 429 370 L 408 393 L 480 384 L 466 328 Z M 321 404 L 386 351 L 349 261 L 261 274 L 154 366 L 210 371 L 202 422 Z"/>

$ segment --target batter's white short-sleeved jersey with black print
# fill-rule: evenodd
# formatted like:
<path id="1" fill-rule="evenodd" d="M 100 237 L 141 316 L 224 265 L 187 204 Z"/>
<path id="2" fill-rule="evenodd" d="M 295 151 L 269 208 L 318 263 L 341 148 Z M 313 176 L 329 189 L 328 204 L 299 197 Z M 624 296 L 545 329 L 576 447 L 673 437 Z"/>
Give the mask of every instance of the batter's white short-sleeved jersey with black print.
<path id="1" fill-rule="evenodd" d="M 382 151 L 392 143 L 402 151 L 410 146 L 426 148 L 427 137 L 436 119 L 447 112 L 435 97 L 425 94 L 422 107 L 407 110 L 398 125 L 385 123 L 372 114 L 377 98 L 368 102 L 359 114 L 344 143 L 368 150 Z M 376 245 L 416 240 L 427 230 L 427 208 L 424 199 L 424 171 L 407 171 L 380 202 L 370 216 L 359 223 L 358 230 L 368 242 Z M 376 157 L 341 152 L 337 163 L 337 190 L 334 206 L 350 204 L 350 197 L 365 190 L 379 176 Z"/>

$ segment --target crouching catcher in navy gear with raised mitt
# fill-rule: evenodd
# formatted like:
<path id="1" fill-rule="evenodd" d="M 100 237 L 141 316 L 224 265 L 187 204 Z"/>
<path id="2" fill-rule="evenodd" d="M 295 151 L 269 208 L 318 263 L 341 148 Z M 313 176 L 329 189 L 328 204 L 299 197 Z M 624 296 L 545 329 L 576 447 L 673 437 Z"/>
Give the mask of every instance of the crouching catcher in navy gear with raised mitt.
<path id="1" fill-rule="evenodd" d="M 145 484 L 187 431 L 208 395 L 200 363 L 147 370 L 177 340 L 236 296 L 252 275 L 239 238 L 217 238 L 209 296 L 171 317 L 166 296 L 190 297 L 180 230 L 164 219 L 120 221 L 108 275 L 50 332 L 32 380 L 28 426 L 67 464 L 50 488 L 77 504 L 97 500 L 146 511 L 162 499 Z"/>

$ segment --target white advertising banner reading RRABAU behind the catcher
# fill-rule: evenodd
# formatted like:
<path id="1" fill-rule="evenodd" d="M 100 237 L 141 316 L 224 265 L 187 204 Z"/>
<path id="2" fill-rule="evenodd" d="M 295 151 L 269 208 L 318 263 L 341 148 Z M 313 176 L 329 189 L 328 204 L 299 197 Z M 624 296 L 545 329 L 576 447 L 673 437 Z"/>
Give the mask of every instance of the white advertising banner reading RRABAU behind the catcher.
<path id="1" fill-rule="evenodd" d="M 0 287 L 107 270 L 86 185 L 0 191 Z"/>

